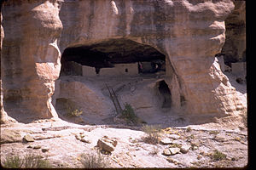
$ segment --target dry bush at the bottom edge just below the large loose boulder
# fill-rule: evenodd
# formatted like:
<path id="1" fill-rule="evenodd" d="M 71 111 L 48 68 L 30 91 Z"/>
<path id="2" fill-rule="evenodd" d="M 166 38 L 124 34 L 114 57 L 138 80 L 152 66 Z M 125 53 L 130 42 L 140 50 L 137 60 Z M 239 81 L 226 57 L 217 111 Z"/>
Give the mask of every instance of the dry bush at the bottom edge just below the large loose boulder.
<path id="1" fill-rule="evenodd" d="M 82 154 L 80 161 L 85 168 L 101 168 L 107 166 L 107 162 L 100 151 L 97 151 L 97 154 Z"/>

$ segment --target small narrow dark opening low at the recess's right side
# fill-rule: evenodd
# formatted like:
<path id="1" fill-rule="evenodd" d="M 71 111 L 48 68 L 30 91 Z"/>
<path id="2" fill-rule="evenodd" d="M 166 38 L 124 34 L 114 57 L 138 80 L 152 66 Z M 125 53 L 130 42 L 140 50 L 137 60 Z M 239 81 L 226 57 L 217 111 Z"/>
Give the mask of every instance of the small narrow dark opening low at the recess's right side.
<path id="1" fill-rule="evenodd" d="M 163 98 L 162 108 L 171 108 L 172 106 L 172 94 L 166 81 L 159 82 L 158 89 L 161 97 Z"/>

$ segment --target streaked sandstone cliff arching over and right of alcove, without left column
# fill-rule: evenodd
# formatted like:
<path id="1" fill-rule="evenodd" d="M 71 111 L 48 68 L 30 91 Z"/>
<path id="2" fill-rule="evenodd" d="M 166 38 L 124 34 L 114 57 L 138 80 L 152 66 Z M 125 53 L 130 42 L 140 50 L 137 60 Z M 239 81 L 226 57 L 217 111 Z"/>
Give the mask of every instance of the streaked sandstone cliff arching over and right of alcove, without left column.
<path id="1" fill-rule="evenodd" d="M 233 8 L 230 1 L 63 3 L 60 49 L 119 37 L 148 44 L 171 65 L 166 74 L 177 111 L 183 96 L 188 113 L 224 114 L 243 107 L 213 57 L 224 45 L 224 20 Z"/>

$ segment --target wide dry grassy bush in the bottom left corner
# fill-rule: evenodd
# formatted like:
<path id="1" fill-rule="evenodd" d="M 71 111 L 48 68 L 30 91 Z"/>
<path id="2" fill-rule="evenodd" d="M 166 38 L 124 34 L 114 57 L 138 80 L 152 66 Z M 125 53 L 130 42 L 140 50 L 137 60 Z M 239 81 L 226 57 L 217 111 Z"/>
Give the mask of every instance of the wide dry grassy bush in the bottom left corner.
<path id="1" fill-rule="evenodd" d="M 7 156 L 3 160 L 3 167 L 8 168 L 47 168 L 51 167 L 49 161 L 43 159 L 42 156 L 36 156 L 33 154 L 27 154 L 23 158 L 20 156 Z"/>

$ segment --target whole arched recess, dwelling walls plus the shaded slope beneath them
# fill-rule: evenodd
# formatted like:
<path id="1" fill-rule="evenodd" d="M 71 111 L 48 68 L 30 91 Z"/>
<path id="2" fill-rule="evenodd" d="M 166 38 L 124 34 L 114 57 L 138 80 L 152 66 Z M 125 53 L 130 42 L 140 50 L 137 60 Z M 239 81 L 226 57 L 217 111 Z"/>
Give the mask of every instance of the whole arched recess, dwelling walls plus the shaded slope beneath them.
<path id="1" fill-rule="evenodd" d="M 143 43 L 118 38 L 65 48 L 53 103 L 62 116 L 67 115 L 72 104 L 83 111 L 84 120 L 92 117 L 90 122 L 99 122 L 104 116 L 106 119 L 117 114 L 109 87 L 114 90 L 121 109 L 129 104 L 140 116 L 160 114 L 171 111 L 172 107 L 172 94 L 165 77 L 165 54 Z M 102 117 L 95 118 L 90 111 Z"/>

